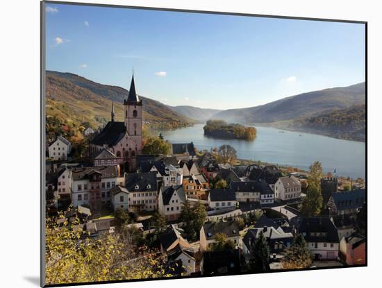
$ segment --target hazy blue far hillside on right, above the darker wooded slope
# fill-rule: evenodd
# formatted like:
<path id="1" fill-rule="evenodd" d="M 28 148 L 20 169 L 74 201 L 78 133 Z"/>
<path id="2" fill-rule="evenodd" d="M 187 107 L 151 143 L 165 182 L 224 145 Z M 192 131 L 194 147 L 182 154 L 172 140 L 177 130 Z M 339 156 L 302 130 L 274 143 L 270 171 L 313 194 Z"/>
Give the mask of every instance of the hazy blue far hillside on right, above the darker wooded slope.
<path id="1" fill-rule="evenodd" d="M 365 104 L 365 83 L 307 92 L 250 108 L 230 109 L 212 118 L 240 123 L 272 123 L 312 117 L 333 109 Z"/>

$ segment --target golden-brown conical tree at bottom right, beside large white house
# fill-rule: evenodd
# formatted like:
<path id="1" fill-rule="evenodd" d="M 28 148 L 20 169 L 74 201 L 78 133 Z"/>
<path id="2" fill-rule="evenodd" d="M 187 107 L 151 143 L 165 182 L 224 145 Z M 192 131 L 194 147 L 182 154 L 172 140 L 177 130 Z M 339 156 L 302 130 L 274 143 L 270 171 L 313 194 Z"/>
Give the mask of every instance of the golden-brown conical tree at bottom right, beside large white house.
<path id="1" fill-rule="evenodd" d="M 304 269 L 311 266 L 312 257 L 301 234 L 296 235 L 292 245 L 285 250 L 282 264 L 284 269 Z"/>

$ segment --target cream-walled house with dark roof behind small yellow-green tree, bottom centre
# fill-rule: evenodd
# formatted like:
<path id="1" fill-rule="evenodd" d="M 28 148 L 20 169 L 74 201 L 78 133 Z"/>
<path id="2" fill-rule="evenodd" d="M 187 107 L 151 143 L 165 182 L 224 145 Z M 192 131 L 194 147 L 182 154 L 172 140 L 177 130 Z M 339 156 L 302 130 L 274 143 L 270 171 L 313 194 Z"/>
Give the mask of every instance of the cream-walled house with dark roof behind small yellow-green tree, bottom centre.
<path id="1" fill-rule="evenodd" d="M 235 246 L 240 244 L 239 225 L 236 221 L 206 222 L 200 230 L 200 251 L 206 251 L 215 242 L 215 235 L 221 233 L 226 235 Z"/>

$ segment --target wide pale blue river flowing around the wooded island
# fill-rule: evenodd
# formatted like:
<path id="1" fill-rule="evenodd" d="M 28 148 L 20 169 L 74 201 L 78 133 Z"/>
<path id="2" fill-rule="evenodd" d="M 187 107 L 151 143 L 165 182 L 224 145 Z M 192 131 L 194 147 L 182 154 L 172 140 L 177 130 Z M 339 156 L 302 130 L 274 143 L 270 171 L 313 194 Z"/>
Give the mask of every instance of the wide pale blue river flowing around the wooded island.
<path id="1" fill-rule="evenodd" d="M 254 141 L 216 139 L 204 136 L 204 124 L 176 130 L 156 130 L 172 143 L 194 142 L 198 150 L 210 150 L 223 144 L 233 146 L 238 158 L 260 160 L 308 170 L 318 160 L 324 172 L 338 176 L 365 178 L 365 143 L 335 139 L 316 134 L 290 132 L 271 127 L 256 127 Z"/>

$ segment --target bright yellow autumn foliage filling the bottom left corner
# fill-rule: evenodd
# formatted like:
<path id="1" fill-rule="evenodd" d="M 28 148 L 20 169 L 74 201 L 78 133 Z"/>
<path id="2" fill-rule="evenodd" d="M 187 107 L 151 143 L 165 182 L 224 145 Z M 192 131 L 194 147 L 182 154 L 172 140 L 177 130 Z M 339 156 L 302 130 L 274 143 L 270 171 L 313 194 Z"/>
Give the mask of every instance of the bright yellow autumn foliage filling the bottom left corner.
<path id="1" fill-rule="evenodd" d="M 47 219 L 45 232 L 46 284 L 163 278 L 165 259 L 158 251 L 137 248 L 119 233 L 90 238 L 78 225 L 79 219 L 58 226 L 57 219 Z"/>

